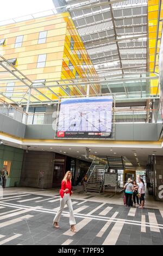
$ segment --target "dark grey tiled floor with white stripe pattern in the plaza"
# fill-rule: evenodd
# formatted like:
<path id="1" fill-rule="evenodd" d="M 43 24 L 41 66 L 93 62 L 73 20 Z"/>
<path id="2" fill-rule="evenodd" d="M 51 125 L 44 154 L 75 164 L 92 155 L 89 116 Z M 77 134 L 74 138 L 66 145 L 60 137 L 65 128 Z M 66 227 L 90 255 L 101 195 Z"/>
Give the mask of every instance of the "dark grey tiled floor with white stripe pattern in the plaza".
<path id="1" fill-rule="evenodd" d="M 122 195 L 87 192 L 72 196 L 77 233 L 68 208 L 60 229 L 52 225 L 58 190 L 5 188 L 0 198 L 0 245 L 163 245 L 163 202 L 146 196 L 146 208 L 127 208 Z"/>

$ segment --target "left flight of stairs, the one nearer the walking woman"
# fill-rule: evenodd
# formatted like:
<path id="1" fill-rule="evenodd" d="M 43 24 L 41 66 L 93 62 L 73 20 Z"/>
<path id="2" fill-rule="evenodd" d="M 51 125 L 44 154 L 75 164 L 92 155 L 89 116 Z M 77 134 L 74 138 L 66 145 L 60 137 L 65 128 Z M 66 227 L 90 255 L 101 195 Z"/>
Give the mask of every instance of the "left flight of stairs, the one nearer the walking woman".
<path id="1" fill-rule="evenodd" d="M 86 190 L 90 192 L 101 193 L 103 191 L 104 172 L 108 170 L 108 166 L 94 164 L 87 176 L 89 177 L 86 184 Z"/>

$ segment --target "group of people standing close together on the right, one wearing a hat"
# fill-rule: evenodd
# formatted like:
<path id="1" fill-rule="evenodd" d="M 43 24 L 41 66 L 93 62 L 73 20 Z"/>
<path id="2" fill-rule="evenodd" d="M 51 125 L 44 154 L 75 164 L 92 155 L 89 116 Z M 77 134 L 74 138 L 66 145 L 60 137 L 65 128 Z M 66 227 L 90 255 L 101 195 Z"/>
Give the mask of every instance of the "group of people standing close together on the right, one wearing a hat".
<path id="1" fill-rule="evenodd" d="M 126 197 L 126 205 L 128 207 L 133 206 L 134 204 L 139 205 L 140 209 L 143 209 L 145 203 L 145 183 L 143 179 L 139 178 L 139 185 L 136 181 L 131 180 L 130 178 L 127 180 L 127 183 L 124 185 L 125 188 L 125 197 Z"/>

